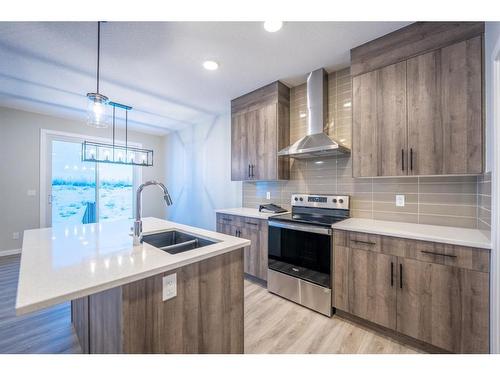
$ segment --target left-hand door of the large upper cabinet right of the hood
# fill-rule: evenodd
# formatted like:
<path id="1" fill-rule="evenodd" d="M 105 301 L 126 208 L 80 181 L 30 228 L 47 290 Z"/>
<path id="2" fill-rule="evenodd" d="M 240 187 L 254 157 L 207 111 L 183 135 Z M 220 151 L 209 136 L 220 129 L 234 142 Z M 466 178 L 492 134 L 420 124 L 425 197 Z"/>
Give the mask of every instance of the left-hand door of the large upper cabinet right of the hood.
<path id="1" fill-rule="evenodd" d="M 406 62 L 353 78 L 354 177 L 404 176 Z"/>

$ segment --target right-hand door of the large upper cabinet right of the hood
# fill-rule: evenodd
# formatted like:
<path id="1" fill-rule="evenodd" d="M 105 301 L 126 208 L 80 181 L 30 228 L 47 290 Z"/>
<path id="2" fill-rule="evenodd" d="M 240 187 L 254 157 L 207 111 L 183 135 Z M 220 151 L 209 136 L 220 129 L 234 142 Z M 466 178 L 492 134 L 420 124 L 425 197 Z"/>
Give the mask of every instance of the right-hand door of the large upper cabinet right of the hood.
<path id="1" fill-rule="evenodd" d="M 408 60 L 410 174 L 483 169 L 481 37 Z"/>

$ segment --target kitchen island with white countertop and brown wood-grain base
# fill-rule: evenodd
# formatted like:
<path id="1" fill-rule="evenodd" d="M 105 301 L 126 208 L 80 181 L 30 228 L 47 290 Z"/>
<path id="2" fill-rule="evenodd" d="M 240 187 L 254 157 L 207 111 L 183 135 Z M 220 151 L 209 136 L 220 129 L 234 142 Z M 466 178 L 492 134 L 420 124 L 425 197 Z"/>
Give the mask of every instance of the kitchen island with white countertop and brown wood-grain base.
<path id="1" fill-rule="evenodd" d="M 130 224 L 25 231 L 16 312 L 71 300 L 85 353 L 242 353 L 250 241 L 143 219 L 145 236 L 175 230 L 212 242 L 170 254 L 133 246 Z"/>

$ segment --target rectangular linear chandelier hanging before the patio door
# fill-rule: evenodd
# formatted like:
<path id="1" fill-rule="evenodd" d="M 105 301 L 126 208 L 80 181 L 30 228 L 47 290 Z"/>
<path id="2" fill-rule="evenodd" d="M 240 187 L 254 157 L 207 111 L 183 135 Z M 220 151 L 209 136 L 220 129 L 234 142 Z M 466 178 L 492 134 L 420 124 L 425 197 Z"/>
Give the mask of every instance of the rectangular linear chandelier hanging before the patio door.
<path id="1" fill-rule="evenodd" d="M 153 166 L 153 150 L 129 147 L 128 145 L 128 111 L 132 107 L 108 102 L 107 105 L 113 107 L 113 142 L 98 143 L 93 141 L 84 141 L 82 143 L 82 161 L 94 163 L 113 163 L 137 165 L 141 167 Z M 125 145 L 117 145 L 115 142 L 116 109 L 125 110 Z"/>

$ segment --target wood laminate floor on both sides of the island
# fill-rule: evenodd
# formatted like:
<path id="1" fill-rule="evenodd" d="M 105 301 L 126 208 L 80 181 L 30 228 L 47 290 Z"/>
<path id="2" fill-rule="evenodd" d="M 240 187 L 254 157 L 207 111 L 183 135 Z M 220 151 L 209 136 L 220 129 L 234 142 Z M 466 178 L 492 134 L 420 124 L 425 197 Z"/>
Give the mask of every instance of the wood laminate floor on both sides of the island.
<path id="1" fill-rule="evenodd" d="M 81 353 L 69 303 L 14 311 L 19 256 L 0 257 L 0 353 Z M 416 353 L 338 317 L 327 318 L 245 280 L 245 353 Z"/>

